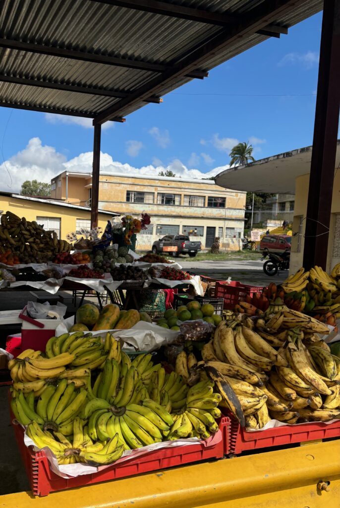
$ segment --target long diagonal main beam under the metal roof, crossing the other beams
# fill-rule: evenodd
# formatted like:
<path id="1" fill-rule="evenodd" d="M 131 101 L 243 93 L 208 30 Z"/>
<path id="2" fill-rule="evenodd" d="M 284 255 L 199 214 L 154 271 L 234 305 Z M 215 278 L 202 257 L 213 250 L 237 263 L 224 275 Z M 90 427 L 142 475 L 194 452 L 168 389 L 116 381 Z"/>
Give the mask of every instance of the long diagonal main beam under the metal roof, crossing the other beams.
<path id="1" fill-rule="evenodd" d="M 156 94 L 164 86 L 170 84 L 175 78 L 186 76 L 192 69 L 202 65 L 207 57 L 213 56 L 216 52 L 223 51 L 240 37 L 254 33 L 256 30 L 263 29 L 270 22 L 279 16 L 289 12 L 297 0 L 265 0 L 257 7 L 253 8 L 244 16 L 242 22 L 235 23 L 229 29 L 221 30 L 218 35 L 203 41 L 190 54 L 183 56 L 182 60 L 174 65 L 172 69 L 165 71 L 145 85 L 135 90 L 131 95 L 118 101 L 118 103 L 106 108 L 99 113 L 93 120 L 93 123 L 103 123 L 112 116 L 123 116 L 130 106 L 144 101 L 146 97 Z"/>

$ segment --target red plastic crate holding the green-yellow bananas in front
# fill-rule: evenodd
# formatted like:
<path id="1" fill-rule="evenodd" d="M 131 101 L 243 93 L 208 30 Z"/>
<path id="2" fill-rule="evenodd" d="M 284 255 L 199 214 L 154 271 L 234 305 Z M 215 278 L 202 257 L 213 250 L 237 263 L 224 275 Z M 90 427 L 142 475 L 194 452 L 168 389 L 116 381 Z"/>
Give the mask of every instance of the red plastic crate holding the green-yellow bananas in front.
<path id="1" fill-rule="evenodd" d="M 35 496 L 47 496 L 50 492 L 84 487 L 99 482 L 107 482 L 126 478 L 134 474 L 142 474 L 159 469 L 181 466 L 207 459 L 222 459 L 225 453 L 230 453 L 230 419 L 221 418 L 220 430 L 222 439 L 216 445 L 205 448 L 201 443 L 190 446 L 165 448 L 142 456 L 138 460 L 126 463 L 114 464 L 103 471 L 94 474 L 81 475 L 76 478 L 65 479 L 50 470 L 49 463 L 43 451 L 34 452 L 32 447 L 27 448 L 24 444 L 24 432 L 19 425 L 13 425 L 19 451 L 28 475 L 32 494 Z M 227 450 L 227 452 L 225 452 Z"/>

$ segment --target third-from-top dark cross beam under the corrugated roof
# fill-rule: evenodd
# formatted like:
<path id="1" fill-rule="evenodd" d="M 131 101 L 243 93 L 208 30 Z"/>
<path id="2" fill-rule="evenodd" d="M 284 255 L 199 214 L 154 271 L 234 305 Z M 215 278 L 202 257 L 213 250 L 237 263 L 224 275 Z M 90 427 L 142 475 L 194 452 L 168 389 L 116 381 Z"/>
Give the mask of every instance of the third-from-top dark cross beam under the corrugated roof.
<path id="1" fill-rule="evenodd" d="M 41 88 L 52 88 L 53 90 L 63 90 L 67 92 L 89 93 L 91 95 L 101 97 L 113 97 L 118 99 L 124 99 L 125 97 L 128 97 L 129 93 L 131 93 L 116 90 L 107 90 L 104 88 L 94 88 L 91 86 L 67 85 L 65 83 L 42 81 L 39 79 L 31 79 L 31 78 L 21 78 L 19 76 L 8 76 L 5 74 L 0 74 L 0 82 L 15 83 L 18 85 L 26 85 L 26 86 L 38 86 Z M 145 102 L 159 104 L 160 102 L 162 102 L 162 99 L 159 99 L 158 97 L 151 97 L 150 99 L 146 99 Z"/>

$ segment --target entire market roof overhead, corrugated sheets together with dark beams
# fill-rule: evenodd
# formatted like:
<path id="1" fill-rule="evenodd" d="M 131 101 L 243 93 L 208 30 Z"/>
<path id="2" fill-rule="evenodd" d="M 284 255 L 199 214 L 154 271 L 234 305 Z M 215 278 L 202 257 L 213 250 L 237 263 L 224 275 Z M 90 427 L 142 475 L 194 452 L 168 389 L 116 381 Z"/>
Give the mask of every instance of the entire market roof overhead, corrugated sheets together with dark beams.
<path id="1" fill-rule="evenodd" d="M 322 0 L 4 0 L 0 105 L 120 121 Z"/>

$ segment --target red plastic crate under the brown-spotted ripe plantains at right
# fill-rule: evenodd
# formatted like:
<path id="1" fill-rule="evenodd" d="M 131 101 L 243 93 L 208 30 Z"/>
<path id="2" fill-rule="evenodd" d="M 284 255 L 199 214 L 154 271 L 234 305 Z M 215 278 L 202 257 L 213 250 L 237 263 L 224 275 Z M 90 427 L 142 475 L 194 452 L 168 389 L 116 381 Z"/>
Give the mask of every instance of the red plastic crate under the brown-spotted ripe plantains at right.
<path id="1" fill-rule="evenodd" d="M 233 416 L 231 420 L 231 437 L 229 452 L 240 454 L 247 450 L 260 450 L 285 444 L 313 441 L 340 437 L 340 420 L 325 425 L 321 422 L 299 423 L 297 425 L 285 425 L 273 429 L 247 432 L 241 427 Z"/>

